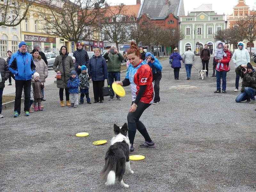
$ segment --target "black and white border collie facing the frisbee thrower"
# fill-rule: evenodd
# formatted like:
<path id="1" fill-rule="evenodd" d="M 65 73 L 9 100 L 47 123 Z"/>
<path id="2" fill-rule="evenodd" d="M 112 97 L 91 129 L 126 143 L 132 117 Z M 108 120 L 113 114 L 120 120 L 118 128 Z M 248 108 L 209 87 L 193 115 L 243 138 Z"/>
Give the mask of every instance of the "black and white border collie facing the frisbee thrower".
<path id="1" fill-rule="evenodd" d="M 125 123 L 122 127 L 114 124 L 115 135 L 111 140 L 111 146 L 108 148 L 105 156 L 105 165 L 100 174 L 101 179 L 105 181 L 105 185 L 114 185 L 116 177 L 123 188 L 128 188 L 129 185 L 123 181 L 125 167 L 129 174 L 133 174 L 130 167 L 129 152 L 130 140 L 127 137 L 128 126 Z"/>

